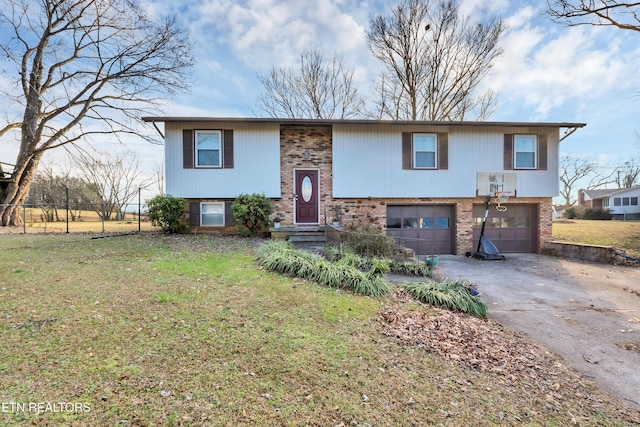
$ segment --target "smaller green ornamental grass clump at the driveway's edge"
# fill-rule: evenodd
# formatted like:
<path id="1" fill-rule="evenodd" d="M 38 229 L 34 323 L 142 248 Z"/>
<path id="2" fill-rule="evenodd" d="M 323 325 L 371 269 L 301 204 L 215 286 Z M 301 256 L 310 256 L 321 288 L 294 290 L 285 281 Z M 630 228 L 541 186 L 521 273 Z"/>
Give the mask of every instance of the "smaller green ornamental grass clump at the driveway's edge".
<path id="1" fill-rule="evenodd" d="M 471 295 L 463 280 L 413 282 L 403 283 L 402 286 L 406 292 L 426 304 L 467 313 L 481 319 L 487 318 L 487 303 L 479 296 Z"/>

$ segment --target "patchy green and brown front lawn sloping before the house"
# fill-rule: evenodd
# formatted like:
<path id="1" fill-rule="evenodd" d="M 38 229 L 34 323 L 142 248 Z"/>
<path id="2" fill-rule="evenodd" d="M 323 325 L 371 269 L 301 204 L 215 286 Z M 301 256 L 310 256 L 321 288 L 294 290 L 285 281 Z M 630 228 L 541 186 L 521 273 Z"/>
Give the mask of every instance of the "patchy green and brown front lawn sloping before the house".
<path id="1" fill-rule="evenodd" d="M 565 384 L 565 376 L 577 389 L 555 390 L 550 403 L 525 375 L 475 371 L 383 336 L 384 308 L 428 309 L 266 272 L 255 262 L 257 244 L 205 236 L 0 236 L 0 425 L 640 419 L 570 370 L 554 370 L 550 381 Z M 23 412 L 12 402 L 68 402 L 81 410 Z"/>

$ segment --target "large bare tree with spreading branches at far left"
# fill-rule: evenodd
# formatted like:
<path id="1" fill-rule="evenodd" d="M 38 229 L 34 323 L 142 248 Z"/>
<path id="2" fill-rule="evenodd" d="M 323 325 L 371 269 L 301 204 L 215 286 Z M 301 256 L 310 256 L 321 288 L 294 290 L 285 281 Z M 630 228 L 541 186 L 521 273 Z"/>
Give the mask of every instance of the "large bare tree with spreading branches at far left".
<path id="1" fill-rule="evenodd" d="M 16 205 L 46 151 L 97 134 L 142 136 L 137 118 L 189 84 L 184 32 L 174 19 L 152 22 L 137 0 L 2 0 L 0 31 L 2 73 L 13 82 L 0 96 L 20 108 L 0 122 L 0 138 L 20 141 L 1 225 L 22 222 Z"/>

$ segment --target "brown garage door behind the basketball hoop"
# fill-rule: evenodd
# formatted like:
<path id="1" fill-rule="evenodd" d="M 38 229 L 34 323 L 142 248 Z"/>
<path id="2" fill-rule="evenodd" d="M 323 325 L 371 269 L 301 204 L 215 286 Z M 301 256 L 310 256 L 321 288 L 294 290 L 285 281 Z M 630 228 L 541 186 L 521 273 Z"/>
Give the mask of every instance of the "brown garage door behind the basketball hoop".
<path id="1" fill-rule="evenodd" d="M 500 252 L 537 252 L 538 205 L 506 203 L 507 210 L 499 212 L 495 204 L 489 207 L 489 217 L 484 235 Z M 484 205 L 473 205 L 473 250 L 478 247 Z"/>

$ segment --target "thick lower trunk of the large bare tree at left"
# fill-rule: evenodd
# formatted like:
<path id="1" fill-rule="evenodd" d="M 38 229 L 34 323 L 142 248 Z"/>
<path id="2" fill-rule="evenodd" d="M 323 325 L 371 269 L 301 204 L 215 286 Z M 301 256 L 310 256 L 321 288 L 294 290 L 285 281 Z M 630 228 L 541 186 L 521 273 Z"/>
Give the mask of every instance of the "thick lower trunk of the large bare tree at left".
<path id="1" fill-rule="evenodd" d="M 36 176 L 38 164 L 42 158 L 41 153 L 36 153 L 27 158 L 21 158 L 15 167 L 11 182 L 7 186 L 7 191 L 0 206 L 0 225 L 21 226 L 22 216 L 19 205 L 23 204 L 31 183 Z"/>

